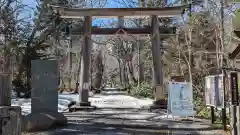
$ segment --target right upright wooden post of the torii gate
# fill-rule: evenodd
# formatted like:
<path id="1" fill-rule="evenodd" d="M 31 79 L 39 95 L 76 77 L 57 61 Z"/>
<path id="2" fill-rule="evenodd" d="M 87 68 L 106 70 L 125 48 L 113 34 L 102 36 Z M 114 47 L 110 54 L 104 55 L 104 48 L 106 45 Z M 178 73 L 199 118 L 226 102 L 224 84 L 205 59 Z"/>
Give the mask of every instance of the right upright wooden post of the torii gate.
<path id="1" fill-rule="evenodd" d="M 163 46 L 160 42 L 159 23 L 158 17 L 152 16 L 152 57 L 153 57 L 153 85 L 155 88 L 155 104 L 165 105 L 163 92 L 163 59 L 162 49 Z M 158 86 L 158 87 L 156 87 Z M 158 89 L 156 89 L 158 88 Z"/>

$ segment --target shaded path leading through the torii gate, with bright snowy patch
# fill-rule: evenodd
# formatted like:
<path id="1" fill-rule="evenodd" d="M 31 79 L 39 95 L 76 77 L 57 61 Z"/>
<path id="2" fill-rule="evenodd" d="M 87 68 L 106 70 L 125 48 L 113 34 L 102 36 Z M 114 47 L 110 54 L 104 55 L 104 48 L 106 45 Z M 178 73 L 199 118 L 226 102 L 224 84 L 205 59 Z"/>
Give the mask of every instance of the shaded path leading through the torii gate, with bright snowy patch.
<path id="1" fill-rule="evenodd" d="M 64 113 L 68 118 L 68 126 L 23 135 L 226 135 L 222 130 L 212 129 L 203 121 L 183 122 L 179 118 L 168 116 L 164 111 L 153 113 L 139 110 L 146 104 L 124 93 L 105 93 L 93 97 L 96 98 L 92 101 L 93 104 L 99 108 L 117 106 L 135 109 Z"/>

